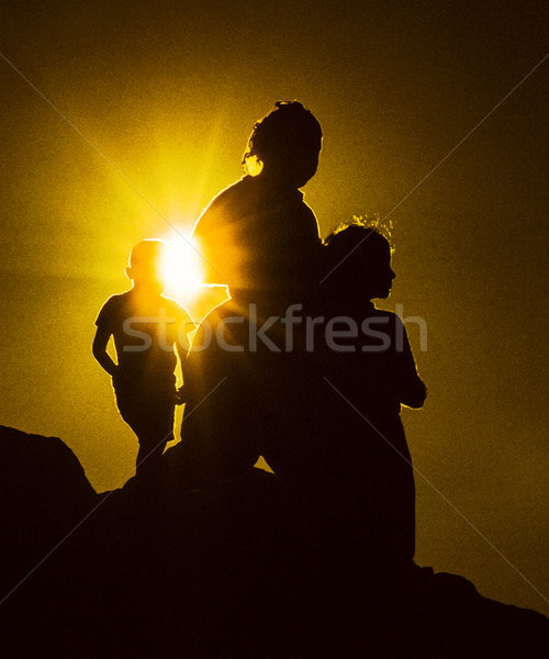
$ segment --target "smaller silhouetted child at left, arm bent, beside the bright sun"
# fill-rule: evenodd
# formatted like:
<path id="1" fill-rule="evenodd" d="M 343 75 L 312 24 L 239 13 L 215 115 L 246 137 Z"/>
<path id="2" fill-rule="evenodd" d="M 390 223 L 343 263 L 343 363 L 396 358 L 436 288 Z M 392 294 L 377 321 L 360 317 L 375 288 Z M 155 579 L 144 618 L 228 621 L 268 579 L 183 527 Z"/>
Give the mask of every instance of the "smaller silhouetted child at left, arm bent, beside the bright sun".
<path id="1" fill-rule="evenodd" d="M 158 463 L 173 438 L 175 407 L 180 402 L 176 350 L 181 356 L 188 348 L 187 333 L 194 328 L 187 311 L 163 295 L 166 249 L 163 241 L 135 245 L 125 269 L 132 289 L 109 298 L 96 321 L 93 356 L 112 376 L 119 411 L 137 435 L 137 473 Z M 107 351 L 111 336 L 117 364 Z"/>

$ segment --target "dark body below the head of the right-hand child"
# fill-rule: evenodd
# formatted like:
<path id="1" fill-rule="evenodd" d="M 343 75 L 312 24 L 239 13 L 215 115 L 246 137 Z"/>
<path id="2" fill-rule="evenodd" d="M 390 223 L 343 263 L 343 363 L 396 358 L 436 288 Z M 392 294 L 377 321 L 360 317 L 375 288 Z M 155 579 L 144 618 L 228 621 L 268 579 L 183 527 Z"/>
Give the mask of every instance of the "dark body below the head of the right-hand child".
<path id="1" fill-rule="evenodd" d="M 345 312 L 344 312 L 345 309 Z M 355 323 L 357 336 L 326 346 L 324 436 L 338 451 L 343 488 L 356 496 L 365 532 L 376 552 L 412 559 L 415 485 L 400 418 L 401 402 L 423 388 L 400 319 L 373 304 L 328 305 L 328 316 Z M 337 324 L 335 325 L 337 327 Z M 346 349 L 343 350 L 341 348 Z M 348 451 L 348 455 L 345 455 Z M 355 507 L 355 510 L 357 510 Z"/>

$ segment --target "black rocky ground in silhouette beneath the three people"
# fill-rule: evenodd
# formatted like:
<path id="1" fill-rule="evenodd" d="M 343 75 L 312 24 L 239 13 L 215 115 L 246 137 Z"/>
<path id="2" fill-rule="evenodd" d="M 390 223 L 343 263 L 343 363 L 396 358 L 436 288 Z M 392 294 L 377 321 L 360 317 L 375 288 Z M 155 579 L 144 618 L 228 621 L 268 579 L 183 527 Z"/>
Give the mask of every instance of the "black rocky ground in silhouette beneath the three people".
<path id="1" fill-rule="evenodd" d="M 97 494 L 60 439 L 0 427 L 3 657 L 548 656 L 541 614 L 389 565 L 265 471 L 189 491 L 173 456 Z"/>

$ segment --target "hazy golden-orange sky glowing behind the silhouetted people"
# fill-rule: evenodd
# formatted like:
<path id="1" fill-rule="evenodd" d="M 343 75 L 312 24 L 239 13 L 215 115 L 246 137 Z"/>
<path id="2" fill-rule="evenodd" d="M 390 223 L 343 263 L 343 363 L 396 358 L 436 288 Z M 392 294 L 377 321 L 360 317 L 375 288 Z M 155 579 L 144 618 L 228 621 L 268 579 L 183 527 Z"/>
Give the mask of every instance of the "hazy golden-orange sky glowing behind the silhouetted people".
<path id="1" fill-rule="evenodd" d="M 239 178 L 254 122 L 298 98 L 325 133 L 306 187 L 323 235 L 405 199 L 388 309 L 428 326 L 426 353 L 412 331 L 429 387 L 404 415 L 415 465 L 547 596 L 549 60 L 406 197 L 542 60 L 547 19 L 533 1 L 3 2 L 0 53 L 89 142 L 0 59 L 0 423 L 60 436 L 99 491 L 132 474 L 97 312 L 130 247 L 172 232 L 150 204 L 190 228 Z M 419 565 L 549 614 L 417 490 Z"/>

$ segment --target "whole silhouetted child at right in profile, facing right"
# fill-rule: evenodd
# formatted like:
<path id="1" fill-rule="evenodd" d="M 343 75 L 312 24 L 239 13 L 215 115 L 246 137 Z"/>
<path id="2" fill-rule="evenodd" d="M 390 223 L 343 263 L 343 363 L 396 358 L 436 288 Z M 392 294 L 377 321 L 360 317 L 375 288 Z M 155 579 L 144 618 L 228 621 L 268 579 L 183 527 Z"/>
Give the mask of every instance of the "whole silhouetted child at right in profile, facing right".
<path id="1" fill-rule="evenodd" d="M 402 321 L 372 302 L 390 294 L 391 246 L 358 223 L 326 243 L 323 298 L 333 326 L 332 336 L 326 334 L 325 372 L 339 399 L 332 407 L 333 431 L 355 442 L 345 473 L 357 485 L 372 545 L 379 543 L 377 550 L 385 557 L 412 559 L 415 488 L 400 411 L 401 405 L 421 407 L 426 388 Z"/>

